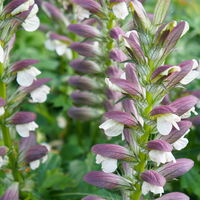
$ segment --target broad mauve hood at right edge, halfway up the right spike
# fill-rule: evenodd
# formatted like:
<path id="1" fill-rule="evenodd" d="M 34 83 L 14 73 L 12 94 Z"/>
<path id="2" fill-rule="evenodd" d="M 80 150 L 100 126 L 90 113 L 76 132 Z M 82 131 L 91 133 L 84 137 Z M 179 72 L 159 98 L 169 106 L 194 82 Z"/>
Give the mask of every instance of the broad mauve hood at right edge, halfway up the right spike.
<path id="1" fill-rule="evenodd" d="M 178 98 L 177 100 L 175 100 L 169 105 L 176 109 L 175 113 L 177 115 L 182 116 L 189 111 L 188 113 L 189 116 L 187 117 L 190 117 L 190 112 L 191 112 L 190 110 L 197 104 L 197 102 L 198 102 L 198 99 L 195 96 L 190 95 L 190 96 Z"/>

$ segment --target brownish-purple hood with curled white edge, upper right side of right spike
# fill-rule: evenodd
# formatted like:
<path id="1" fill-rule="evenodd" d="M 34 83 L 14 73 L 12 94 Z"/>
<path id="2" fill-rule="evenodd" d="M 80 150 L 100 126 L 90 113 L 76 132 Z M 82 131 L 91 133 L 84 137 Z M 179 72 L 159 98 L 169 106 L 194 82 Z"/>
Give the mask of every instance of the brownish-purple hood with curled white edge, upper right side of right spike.
<path id="1" fill-rule="evenodd" d="M 163 65 L 158 67 L 153 74 L 151 75 L 151 79 L 153 81 L 159 80 L 162 77 L 167 77 L 171 73 L 180 72 L 181 68 L 176 65 Z"/>

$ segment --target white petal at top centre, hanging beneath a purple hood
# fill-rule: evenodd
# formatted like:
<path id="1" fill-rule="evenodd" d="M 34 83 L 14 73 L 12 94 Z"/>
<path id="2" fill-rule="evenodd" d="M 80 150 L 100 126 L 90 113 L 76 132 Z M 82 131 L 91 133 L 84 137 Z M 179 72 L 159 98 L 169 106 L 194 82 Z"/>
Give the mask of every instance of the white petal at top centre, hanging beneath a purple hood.
<path id="1" fill-rule="evenodd" d="M 128 8 L 125 2 L 116 3 L 112 7 L 114 15 L 119 19 L 125 19 L 128 16 Z"/>

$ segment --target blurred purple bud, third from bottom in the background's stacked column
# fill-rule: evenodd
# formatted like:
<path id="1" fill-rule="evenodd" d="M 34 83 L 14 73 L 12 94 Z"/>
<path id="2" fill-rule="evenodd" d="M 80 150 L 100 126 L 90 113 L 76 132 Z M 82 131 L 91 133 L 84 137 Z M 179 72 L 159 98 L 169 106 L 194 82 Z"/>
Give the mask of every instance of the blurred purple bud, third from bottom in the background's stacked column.
<path id="1" fill-rule="evenodd" d="M 68 82 L 70 85 L 81 90 L 94 90 L 99 88 L 96 81 L 84 76 L 72 76 Z"/>

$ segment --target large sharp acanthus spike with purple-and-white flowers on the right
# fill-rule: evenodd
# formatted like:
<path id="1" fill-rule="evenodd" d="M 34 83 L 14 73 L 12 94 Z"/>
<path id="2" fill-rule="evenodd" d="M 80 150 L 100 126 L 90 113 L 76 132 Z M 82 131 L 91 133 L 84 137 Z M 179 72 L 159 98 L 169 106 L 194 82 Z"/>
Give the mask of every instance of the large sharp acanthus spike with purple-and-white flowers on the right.
<path id="1" fill-rule="evenodd" d="M 104 189 L 117 189 L 123 200 L 189 200 L 180 192 L 164 194 L 164 186 L 188 172 L 194 162 L 176 159 L 173 152 L 185 148 L 192 126 L 189 117 L 198 99 L 182 96 L 173 102 L 167 95 L 199 76 L 196 60 L 180 64 L 166 63 L 179 39 L 188 31 L 185 21 L 164 22 L 170 0 L 158 0 L 149 18 L 138 0 L 129 2 L 134 29 L 122 34 L 126 59 L 120 78 L 107 78 L 114 91 L 120 91 L 123 110 L 105 113 L 100 125 L 109 137 L 122 136 L 118 144 L 92 147 L 102 171 L 89 172 L 84 180 Z M 121 137 L 120 136 L 120 137 Z M 117 171 L 117 174 L 114 172 Z M 104 199 L 88 196 L 84 199 Z"/>

